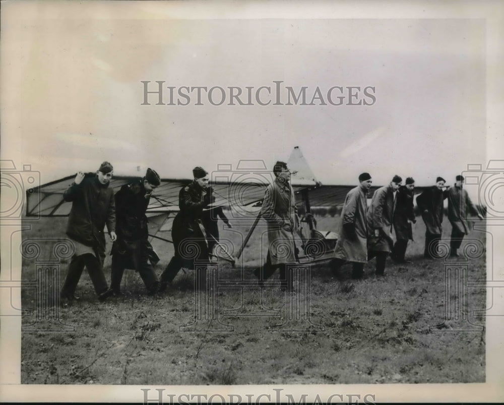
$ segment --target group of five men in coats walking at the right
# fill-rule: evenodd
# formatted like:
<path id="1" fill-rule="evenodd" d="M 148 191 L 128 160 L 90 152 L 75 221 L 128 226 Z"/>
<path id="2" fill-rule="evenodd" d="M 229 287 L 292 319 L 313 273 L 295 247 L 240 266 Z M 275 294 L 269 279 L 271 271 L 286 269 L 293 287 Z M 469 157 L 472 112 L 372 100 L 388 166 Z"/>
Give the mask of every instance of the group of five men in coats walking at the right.
<path id="1" fill-rule="evenodd" d="M 348 192 L 341 212 L 341 232 L 336 243 L 332 270 L 339 273 L 341 266 L 352 263 L 352 277 L 361 278 L 364 264 L 376 257 L 375 275 L 385 275 L 387 257 L 398 263 L 405 259 L 408 241 L 413 240 L 412 224 L 416 222 L 413 210 L 415 181 L 394 176 L 389 185 L 377 189 L 367 207 L 367 193 L 372 179 L 369 173 L 359 176 L 360 185 Z M 452 224 L 450 255 L 458 256 L 462 239 L 469 234 L 469 213 L 483 216 L 462 188 L 464 177 L 458 175 L 454 187 L 445 186 L 446 180 L 436 179 L 436 184 L 424 190 L 416 199 L 425 222 L 424 257 L 439 257 L 438 244 L 443 233 L 444 200 L 448 198 L 448 218 Z M 395 233 L 396 241 L 392 233 Z"/>

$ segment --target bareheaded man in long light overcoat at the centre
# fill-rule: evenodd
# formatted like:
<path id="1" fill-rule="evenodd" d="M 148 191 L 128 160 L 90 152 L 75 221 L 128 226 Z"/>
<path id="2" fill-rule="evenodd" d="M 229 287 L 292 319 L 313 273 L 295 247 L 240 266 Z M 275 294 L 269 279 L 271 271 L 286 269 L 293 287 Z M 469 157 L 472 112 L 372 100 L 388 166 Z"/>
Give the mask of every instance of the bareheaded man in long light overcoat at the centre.
<path id="1" fill-rule="evenodd" d="M 287 164 L 277 161 L 273 173 L 275 180 L 268 185 L 261 207 L 261 216 L 268 225 L 268 254 L 266 263 L 254 270 L 254 275 L 262 284 L 279 268 L 280 285 L 291 292 L 293 280 L 289 265 L 296 262 L 293 217 L 296 201 Z"/>

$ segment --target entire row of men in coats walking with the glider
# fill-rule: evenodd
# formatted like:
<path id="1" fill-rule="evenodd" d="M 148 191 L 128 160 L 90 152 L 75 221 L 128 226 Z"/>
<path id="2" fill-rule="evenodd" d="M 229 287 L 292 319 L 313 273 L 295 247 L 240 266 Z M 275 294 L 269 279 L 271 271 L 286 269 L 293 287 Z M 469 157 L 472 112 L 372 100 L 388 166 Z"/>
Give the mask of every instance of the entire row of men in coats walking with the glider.
<path id="1" fill-rule="evenodd" d="M 268 253 L 266 262 L 253 273 L 259 284 L 280 270 L 280 285 L 292 291 L 292 268 L 296 262 L 294 234 L 296 207 L 290 184 L 291 172 L 287 164 L 277 161 L 273 168 L 275 180 L 267 187 L 260 211 L 268 224 Z M 67 235 L 73 240 L 75 254 L 71 259 L 60 297 L 69 304 L 77 299 L 75 290 L 84 267 L 87 268 L 100 301 L 121 295 L 120 285 L 124 269 L 138 271 L 148 294 L 162 293 L 184 268 L 196 269 L 196 288 L 205 289 L 205 273 L 212 249 L 218 243 L 217 217 L 227 226 L 231 223 L 222 208 L 213 206 L 213 190 L 208 186 L 208 172 L 198 166 L 193 169 L 194 180 L 180 189 L 179 212 L 172 225 L 174 256 L 158 280 L 153 266 L 159 262 L 148 241 L 146 210 L 152 192 L 160 185 L 158 173 L 148 168 L 141 180 L 123 185 L 115 193 L 109 187 L 113 167 L 103 162 L 96 173 L 78 172 L 74 183 L 64 194 L 72 202 Z M 457 176 L 454 188 L 443 190 L 445 180 L 438 178 L 436 185 L 417 198 L 426 224 L 425 256 L 435 257 L 441 237 L 443 201 L 449 200 L 449 219 L 452 223 L 452 255 L 457 255 L 464 235 L 468 234 L 465 218 L 467 210 L 481 214 L 462 188 L 464 179 Z M 412 178 L 394 176 L 391 183 L 377 189 L 367 207 L 367 193 L 372 179 L 369 173 L 359 176 L 359 186 L 346 196 L 341 212 L 341 232 L 337 241 L 332 269 L 352 263 L 352 276 L 363 275 L 364 263 L 376 257 L 376 275 L 384 275 L 388 255 L 394 261 L 406 263 L 408 240 L 412 240 L 411 224 L 415 222 Z M 111 255 L 111 282 L 108 286 L 103 272 L 105 259 L 104 227 L 113 242 Z M 392 232 L 395 232 L 396 241 Z"/>

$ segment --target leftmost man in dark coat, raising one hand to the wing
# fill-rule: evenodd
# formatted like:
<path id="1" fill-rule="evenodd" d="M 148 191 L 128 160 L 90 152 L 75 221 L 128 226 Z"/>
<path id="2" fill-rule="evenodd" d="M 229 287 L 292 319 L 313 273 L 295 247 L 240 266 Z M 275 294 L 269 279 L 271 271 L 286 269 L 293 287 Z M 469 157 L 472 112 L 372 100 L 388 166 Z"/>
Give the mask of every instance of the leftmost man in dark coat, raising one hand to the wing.
<path id="1" fill-rule="evenodd" d="M 76 299 L 75 289 L 84 267 L 88 270 L 98 299 L 104 301 L 112 295 L 103 274 L 105 224 L 110 239 L 116 239 L 114 191 L 108 187 L 112 174 L 113 167 L 109 162 L 103 162 L 96 174 L 85 175 L 79 171 L 74 183 L 63 195 L 65 201 L 72 201 L 67 235 L 75 247 L 60 293 L 60 297 L 66 300 L 64 304 Z"/>

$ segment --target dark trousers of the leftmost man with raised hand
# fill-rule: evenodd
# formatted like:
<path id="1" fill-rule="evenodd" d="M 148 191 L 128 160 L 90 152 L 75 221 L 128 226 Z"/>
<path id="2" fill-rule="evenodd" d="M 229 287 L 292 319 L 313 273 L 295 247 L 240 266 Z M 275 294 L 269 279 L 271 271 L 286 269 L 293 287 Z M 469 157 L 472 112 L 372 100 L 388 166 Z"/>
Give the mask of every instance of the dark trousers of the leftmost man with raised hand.
<path id="1" fill-rule="evenodd" d="M 97 295 L 108 290 L 101 260 L 91 253 L 86 253 L 84 255 L 74 255 L 72 257 L 70 265 L 68 266 L 65 282 L 61 288 L 61 297 L 71 297 L 74 295 L 84 267 L 88 270 L 89 277 L 91 278 Z"/>

